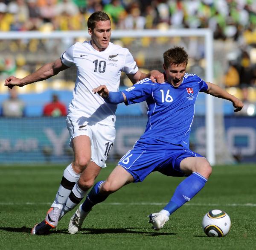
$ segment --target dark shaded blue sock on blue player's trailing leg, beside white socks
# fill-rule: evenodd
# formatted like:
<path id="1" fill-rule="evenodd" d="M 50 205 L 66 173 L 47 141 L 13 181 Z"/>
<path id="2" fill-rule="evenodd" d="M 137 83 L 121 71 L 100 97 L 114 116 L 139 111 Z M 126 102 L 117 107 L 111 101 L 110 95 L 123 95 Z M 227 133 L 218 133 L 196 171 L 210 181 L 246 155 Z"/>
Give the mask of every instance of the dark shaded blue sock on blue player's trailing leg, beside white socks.
<path id="1" fill-rule="evenodd" d="M 84 203 L 82 204 L 81 208 L 85 211 L 88 212 L 90 211 L 90 209 L 92 209 L 92 207 L 94 205 L 96 205 L 97 203 L 100 203 L 102 201 L 105 201 L 108 198 L 108 195 L 101 195 L 99 193 L 99 187 L 100 185 L 103 183 L 104 181 L 99 181 L 97 182 L 93 188 L 91 189 L 91 191 L 89 192 L 89 194 L 86 196 L 86 199 L 84 201 Z"/>

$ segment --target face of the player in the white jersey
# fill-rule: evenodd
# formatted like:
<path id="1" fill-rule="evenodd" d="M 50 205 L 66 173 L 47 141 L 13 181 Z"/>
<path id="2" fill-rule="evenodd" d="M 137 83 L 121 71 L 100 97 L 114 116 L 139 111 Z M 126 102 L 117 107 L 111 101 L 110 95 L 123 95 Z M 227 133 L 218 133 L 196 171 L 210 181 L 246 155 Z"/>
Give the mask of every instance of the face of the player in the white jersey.
<path id="1" fill-rule="evenodd" d="M 88 28 L 89 35 L 92 38 L 93 48 L 102 51 L 108 47 L 111 36 L 111 23 L 107 21 L 96 22 L 95 28 Z"/>

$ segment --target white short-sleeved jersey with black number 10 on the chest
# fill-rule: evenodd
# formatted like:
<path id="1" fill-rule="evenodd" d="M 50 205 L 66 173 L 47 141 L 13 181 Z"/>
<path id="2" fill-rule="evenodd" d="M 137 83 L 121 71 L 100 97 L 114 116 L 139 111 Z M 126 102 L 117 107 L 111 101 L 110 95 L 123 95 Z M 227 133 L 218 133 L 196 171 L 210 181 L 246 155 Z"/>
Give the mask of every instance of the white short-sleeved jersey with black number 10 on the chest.
<path id="1" fill-rule="evenodd" d="M 114 125 L 117 105 L 108 104 L 93 88 L 105 84 L 109 91 L 118 91 L 122 71 L 135 74 L 136 62 L 128 49 L 109 43 L 104 51 L 97 51 L 91 42 L 76 43 L 61 55 L 68 67 L 76 65 L 77 77 L 68 117 L 88 123 Z"/>

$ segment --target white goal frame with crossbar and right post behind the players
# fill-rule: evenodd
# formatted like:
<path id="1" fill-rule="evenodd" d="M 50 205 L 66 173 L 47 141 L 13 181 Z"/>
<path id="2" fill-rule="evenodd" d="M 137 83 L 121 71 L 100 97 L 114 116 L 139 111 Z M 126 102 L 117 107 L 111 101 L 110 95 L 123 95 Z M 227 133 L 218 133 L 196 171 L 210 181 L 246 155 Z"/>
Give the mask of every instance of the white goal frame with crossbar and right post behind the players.
<path id="1" fill-rule="evenodd" d="M 54 32 L 0 32 L 0 41 L 20 39 L 72 39 L 90 38 L 86 30 L 54 31 Z M 111 39 L 117 38 L 160 38 L 160 37 L 200 37 L 204 38 L 205 81 L 213 81 L 213 35 L 210 29 L 169 29 L 169 30 L 113 30 Z M 132 53 L 133 54 L 133 53 Z M 133 54 L 134 55 L 134 54 Z M 206 95 L 205 127 L 206 157 L 211 165 L 215 165 L 215 126 L 213 97 Z"/>

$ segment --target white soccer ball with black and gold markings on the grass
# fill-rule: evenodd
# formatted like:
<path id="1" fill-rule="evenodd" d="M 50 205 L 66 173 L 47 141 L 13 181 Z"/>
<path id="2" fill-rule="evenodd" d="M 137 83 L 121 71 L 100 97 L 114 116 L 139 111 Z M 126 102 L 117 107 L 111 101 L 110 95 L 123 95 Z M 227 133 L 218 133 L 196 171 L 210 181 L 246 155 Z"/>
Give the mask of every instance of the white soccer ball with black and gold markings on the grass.
<path id="1" fill-rule="evenodd" d="M 230 231 L 230 217 L 219 209 L 211 210 L 204 215 L 202 227 L 209 237 L 223 237 Z"/>

